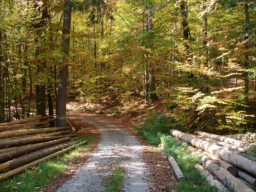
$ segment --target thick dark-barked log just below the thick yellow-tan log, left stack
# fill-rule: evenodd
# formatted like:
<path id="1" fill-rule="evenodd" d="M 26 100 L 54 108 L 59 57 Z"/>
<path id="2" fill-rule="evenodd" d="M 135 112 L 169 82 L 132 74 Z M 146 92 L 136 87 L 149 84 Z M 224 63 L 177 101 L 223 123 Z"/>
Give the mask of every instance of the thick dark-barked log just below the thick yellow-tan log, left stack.
<path id="1" fill-rule="evenodd" d="M 72 136 L 75 137 L 75 135 L 59 135 L 59 136 L 52 136 L 52 137 L 40 137 L 40 138 L 33 138 L 33 139 L 22 139 L 22 140 L 18 139 L 13 141 L 6 141 L 6 142 L 0 143 L 0 149 L 21 146 L 26 144 L 42 143 L 46 141 L 53 141 L 56 139 L 61 139 L 64 137 L 72 137 Z"/>

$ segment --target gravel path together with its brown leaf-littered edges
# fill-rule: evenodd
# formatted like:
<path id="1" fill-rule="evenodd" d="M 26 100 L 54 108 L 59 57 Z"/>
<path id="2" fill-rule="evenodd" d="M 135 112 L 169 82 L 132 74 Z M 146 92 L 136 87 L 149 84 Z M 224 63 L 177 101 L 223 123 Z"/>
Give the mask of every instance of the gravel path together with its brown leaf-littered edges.
<path id="1" fill-rule="evenodd" d="M 55 178 L 45 191 L 106 191 L 106 181 L 115 166 L 125 169 L 121 191 L 175 190 L 176 177 L 166 156 L 160 148 L 148 146 L 130 128 L 131 124 L 91 112 L 68 112 L 67 115 L 80 129 L 78 133 L 84 134 L 83 130 L 88 132 L 91 128 L 98 144 L 77 165 L 73 164 Z"/>

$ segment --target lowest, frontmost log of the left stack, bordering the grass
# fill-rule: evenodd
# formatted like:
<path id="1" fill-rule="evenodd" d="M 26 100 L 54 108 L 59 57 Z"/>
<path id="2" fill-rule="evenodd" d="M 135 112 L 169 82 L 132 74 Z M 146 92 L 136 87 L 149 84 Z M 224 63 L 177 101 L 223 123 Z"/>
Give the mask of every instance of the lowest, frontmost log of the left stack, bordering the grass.
<path id="1" fill-rule="evenodd" d="M 0 174 L 0 181 L 3 181 L 3 180 L 5 180 L 5 179 L 7 179 L 7 178 L 9 178 L 9 177 L 11 177 L 11 176 L 14 176 L 14 175 L 16 175 L 16 174 L 18 174 L 18 173 L 20 173 L 20 172 L 22 172 L 22 171 L 28 169 L 29 167 L 33 167 L 33 166 L 35 166 L 36 164 L 40 163 L 41 161 L 47 161 L 47 160 L 49 160 L 49 159 L 51 159 L 51 158 L 53 158 L 53 157 L 55 157 L 55 156 L 57 156 L 57 155 L 61 155 L 61 154 L 67 153 L 67 152 L 71 151 L 72 149 L 76 148 L 77 146 L 84 145 L 84 144 L 86 144 L 86 143 L 87 143 L 87 141 L 84 141 L 84 142 L 82 142 L 82 143 L 73 145 L 73 146 L 71 146 L 71 147 L 69 147 L 69 148 L 63 149 L 63 150 L 61 150 L 61 151 L 58 151 L 58 152 L 53 153 L 53 154 L 51 154 L 51 155 L 48 155 L 48 156 L 46 156 L 46 157 L 44 157 L 44 158 L 41 158 L 41 159 L 38 159 L 38 160 L 36 160 L 36 161 L 34 161 L 34 162 L 31 162 L 31 163 L 29 163 L 29 164 L 26 164 L 26 165 L 24 165 L 24 166 L 22 166 L 22 167 L 19 167 L 19 168 L 16 168 L 16 169 L 14 169 L 14 170 L 11 170 L 11 171 L 9 171 L 9 172 L 7 172 L 7 173 Z"/>

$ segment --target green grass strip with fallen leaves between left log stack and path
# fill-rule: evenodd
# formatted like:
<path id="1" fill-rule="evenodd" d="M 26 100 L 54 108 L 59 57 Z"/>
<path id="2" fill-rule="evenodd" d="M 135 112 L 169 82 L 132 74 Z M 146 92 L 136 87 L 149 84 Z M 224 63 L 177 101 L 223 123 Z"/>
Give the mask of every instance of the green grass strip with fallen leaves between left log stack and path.
<path id="1" fill-rule="evenodd" d="M 79 146 L 68 153 L 56 156 L 48 161 L 40 162 L 34 167 L 30 167 L 26 172 L 17 174 L 0 183 L 0 191 L 41 191 L 44 186 L 48 186 L 50 181 L 56 178 L 69 167 L 68 160 L 75 161 L 82 156 L 82 152 L 89 150 L 93 142 L 91 135 L 80 137 L 88 144 Z"/>

